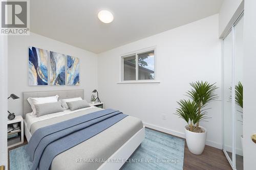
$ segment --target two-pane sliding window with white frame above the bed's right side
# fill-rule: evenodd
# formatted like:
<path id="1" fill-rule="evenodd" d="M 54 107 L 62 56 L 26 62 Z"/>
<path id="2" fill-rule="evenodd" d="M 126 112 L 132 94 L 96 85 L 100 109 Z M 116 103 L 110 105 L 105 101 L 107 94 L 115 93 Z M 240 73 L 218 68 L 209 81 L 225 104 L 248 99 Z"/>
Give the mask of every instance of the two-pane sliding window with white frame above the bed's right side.
<path id="1" fill-rule="evenodd" d="M 155 80 L 155 50 L 122 56 L 122 82 Z"/>

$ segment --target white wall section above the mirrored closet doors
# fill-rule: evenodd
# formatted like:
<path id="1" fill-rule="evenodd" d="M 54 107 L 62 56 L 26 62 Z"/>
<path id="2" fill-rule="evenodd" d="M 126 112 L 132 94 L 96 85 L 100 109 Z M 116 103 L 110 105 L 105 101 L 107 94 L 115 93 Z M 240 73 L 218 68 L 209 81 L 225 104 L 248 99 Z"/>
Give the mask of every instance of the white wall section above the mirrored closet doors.
<path id="1" fill-rule="evenodd" d="M 223 37 L 244 10 L 243 0 L 224 0 L 219 12 L 219 36 Z"/>

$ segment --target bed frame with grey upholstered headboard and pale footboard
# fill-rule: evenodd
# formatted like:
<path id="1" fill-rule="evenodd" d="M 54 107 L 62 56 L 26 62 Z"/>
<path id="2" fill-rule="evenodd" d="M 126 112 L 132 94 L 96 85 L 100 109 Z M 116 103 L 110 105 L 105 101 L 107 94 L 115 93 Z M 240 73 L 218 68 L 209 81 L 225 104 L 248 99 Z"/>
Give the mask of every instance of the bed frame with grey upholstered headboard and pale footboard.
<path id="1" fill-rule="evenodd" d="M 23 92 L 23 118 L 25 120 L 26 113 L 32 112 L 30 104 L 28 103 L 28 98 L 43 98 L 46 96 L 59 95 L 59 99 L 68 99 L 68 98 L 78 98 L 83 99 L 84 91 L 81 90 L 57 90 L 57 91 L 32 91 L 32 92 Z M 27 123 L 24 121 L 25 136 L 29 141 L 31 138 L 31 133 L 27 128 Z M 143 127 L 135 135 L 133 135 L 129 140 L 127 140 L 109 159 L 128 159 L 133 152 L 139 147 L 141 142 L 145 137 L 145 128 Z M 115 162 L 110 163 L 111 161 L 106 161 L 98 168 L 99 170 L 108 170 L 108 169 L 120 169 L 125 162 Z"/>

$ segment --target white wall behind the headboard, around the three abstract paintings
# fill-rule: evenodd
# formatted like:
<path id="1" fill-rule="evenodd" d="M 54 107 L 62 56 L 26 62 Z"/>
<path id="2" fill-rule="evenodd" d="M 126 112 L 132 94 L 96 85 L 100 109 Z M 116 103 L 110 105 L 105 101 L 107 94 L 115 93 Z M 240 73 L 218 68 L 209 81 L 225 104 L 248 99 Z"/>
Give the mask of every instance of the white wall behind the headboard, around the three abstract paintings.
<path id="1" fill-rule="evenodd" d="M 28 86 L 29 46 L 78 57 L 80 59 L 80 85 Z M 34 33 L 30 36 L 10 36 L 8 53 L 8 94 L 14 93 L 22 98 L 24 91 L 84 89 L 84 98 L 90 101 L 91 92 L 97 88 L 97 55 L 94 53 Z M 16 115 L 22 114 L 22 100 L 9 99 L 8 109 Z"/>

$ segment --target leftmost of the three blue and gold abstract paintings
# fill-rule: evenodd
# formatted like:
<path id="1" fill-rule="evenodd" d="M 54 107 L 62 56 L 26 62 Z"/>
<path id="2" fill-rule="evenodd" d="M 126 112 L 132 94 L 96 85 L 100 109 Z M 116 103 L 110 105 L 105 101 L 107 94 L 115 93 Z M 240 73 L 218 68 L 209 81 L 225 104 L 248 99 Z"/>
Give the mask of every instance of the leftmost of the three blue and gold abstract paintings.
<path id="1" fill-rule="evenodd" d="M 29 46 L 29 86 L 48 85 L 49 51 Z"/>

